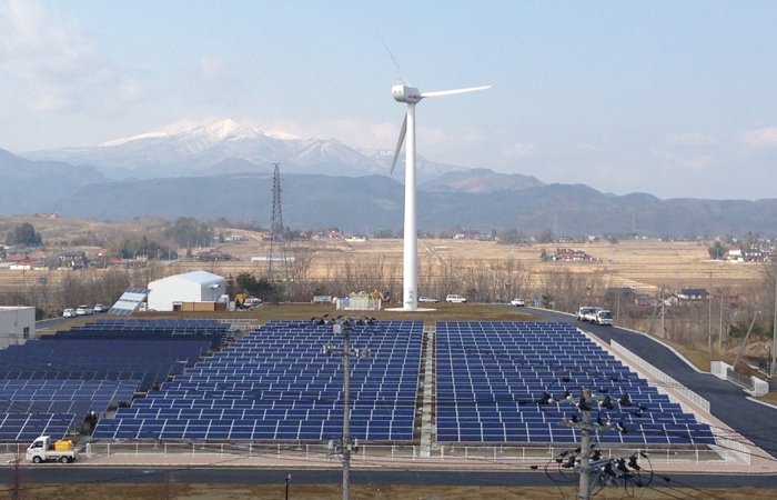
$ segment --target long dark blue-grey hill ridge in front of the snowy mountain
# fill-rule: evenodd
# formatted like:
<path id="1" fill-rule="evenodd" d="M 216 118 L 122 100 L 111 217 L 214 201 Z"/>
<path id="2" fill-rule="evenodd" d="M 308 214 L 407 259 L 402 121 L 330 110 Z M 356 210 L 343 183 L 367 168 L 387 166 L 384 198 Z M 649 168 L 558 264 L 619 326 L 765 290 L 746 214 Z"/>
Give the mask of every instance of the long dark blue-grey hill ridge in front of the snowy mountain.
<path id="1" fill-rule="evenodd" d="M 493 172 L 492 172 L 493 173 Z M 486 178 L 491 173 L 485 172 Z M 364 232 L 398 230 L 404 187 L 385 176 L 359 178 L 283 176 L 283 221 L 291 227 L 339 227 Z M 649 194 L 605 196 L 583 184 L 546 184 L 491 192 L 423 191 L 418 229 L 456 226 L 481 231 L 552 229 L 558 236 L 777 233 L 777 200 L 659 200 Z M 173 219 L 219 216 L 269 226 L 272 176 L 240 173 L 198 178 L 113 181 L 84 187 L 36 211 L 79 218 L 127 220 L 149 214 Z"/>

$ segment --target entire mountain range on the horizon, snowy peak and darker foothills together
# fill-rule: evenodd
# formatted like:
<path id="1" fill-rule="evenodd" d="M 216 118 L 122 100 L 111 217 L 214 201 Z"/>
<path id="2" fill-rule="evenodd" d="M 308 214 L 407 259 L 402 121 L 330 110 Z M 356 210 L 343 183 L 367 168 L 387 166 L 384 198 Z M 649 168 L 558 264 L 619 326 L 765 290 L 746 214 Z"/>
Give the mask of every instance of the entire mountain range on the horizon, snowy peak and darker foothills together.
<path id="1" fill-rule="evenodd" d="M 93 148 L 14 156 L 0 150 L 0 214 L 60 212 L 88 219 L 199 217 L 269 226 L 273 163 L 284 223 L 350 232 L 402 228 L 402 164 L 392 151 L 300 139 L 221 120 Z M 23 157 L 23 158 L 22 158 Z M 777 200 L 660 200 L 418 158 L 418 228 L 516 228 L 558 236 L 777 233 Z"/>

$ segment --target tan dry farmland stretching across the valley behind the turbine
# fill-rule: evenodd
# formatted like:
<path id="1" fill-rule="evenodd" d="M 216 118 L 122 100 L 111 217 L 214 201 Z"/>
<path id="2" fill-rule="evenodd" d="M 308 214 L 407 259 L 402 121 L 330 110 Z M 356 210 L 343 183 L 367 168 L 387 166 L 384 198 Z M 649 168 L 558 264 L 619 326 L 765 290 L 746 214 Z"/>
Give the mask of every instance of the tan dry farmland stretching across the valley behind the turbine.
<path id="1" fill-rule="evenodd" d="M 22 218 L 0 221 L 3 228 L 20 223 Z M 33 220 L 36 229 L 43 234 L 46 247 L 36 250 L 31 257 L 57 256 L 64 250 L 97 252 L 100 247 L 73 246 L 71 242 L 84 236 L 100 234 L 104 240 L 119 236 L 143 236 L 160 238 L 163 222 L 141 220 L 133 222 L 100 222 L 58 218 Z M 225 277 L 242 272 L 263 276 L 266 262 L 251 262 L 252 257 L 266 257 L 269 242 L 262 233 L 219 228 L 222 233 L 242 234 L 245 241 L 228 242 L 219 246 L 238 260 L 204 262 L 192 258 L 161 261 L 149 264 L 143 272 L 134 272 L 131 281 L 144 286 L 142 281 L 157 279 L 192 270 L 206 270 Z M 630 287 L 639 293 L 656 296 L 659 287 L 667 291 L 690 288 L 725 288 L 728 291 L 743 291 L 758 286 L 763 280 L 763 264 L 710 261 L 705 241 L 659 241 L 623 240 L 617 243 L 606 241 L 578 243 L 547 243 L 533 246 L 500 244 L 494 241 L 421 239 L 418 241 L 418 288 L 420 294 L 444 297 L 446 293 L 464 293 L 475 290 L 474 300 L 486 302 L 508 301 L 513 297 L 533 298 L 545 293 L 553 276 L 574 274 L 588 289 L 602 291 L 609 287 Z M 586 261 L 564 261 L 539 259 L 545 250 L 552 254 L 558 247 L 581 250 L 593 258 Z M 183 256 L 184 249 L 178 249 Z M 196 253 L 198 249 L 192 249 Z M 274 249 L 279 257 L 279 247 Z M 367 239 L 347 240 L 321 238 L 317 240 L 290 241 L 286 256 L 293 258 L 287 273 L 295 282 L 297 297 L 292 300 L 305 301 L 314 288 L 332 294 L 351 291 L 387 289 L 395 296 L 402 287 L 402 240 Z M 281 264 L 276 264 L 276 269 Z M 121 269 L 120 269 L 121 270 Z M 65 278 L 98 280 L 108 272 L 105 269 L 44 270 L 27 271 L 0 269 L 0 293 L 24 294 L 44 278 L 57 288 Z M 712 276 L 710 276 L 712 273 Z M 309 284 L 309 286 L 305 286 Z M 108 299 L 100 299 L 108 300 Z"/>

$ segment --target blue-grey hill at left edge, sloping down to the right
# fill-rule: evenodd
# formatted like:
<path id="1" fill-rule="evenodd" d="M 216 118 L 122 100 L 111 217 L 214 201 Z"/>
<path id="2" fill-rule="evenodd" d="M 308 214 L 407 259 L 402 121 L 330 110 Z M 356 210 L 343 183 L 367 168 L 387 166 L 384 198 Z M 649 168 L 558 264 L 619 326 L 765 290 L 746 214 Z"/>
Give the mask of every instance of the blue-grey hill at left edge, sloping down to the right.
<path id="1" fill-rule="evenodd" d="M 92 167 L 30 161 L 0 149 L 0 213 L 34 213 L 105 177 Z"/>

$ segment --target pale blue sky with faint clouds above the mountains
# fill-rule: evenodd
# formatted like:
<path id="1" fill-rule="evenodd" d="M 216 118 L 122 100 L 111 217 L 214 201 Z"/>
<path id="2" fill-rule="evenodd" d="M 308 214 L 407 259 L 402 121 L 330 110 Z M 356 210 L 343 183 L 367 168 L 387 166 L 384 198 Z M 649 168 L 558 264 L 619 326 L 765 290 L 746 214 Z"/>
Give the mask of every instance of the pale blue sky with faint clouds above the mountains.
<path id="1" fill-rule="evenodd" d="M 0 148 L 231 118 L 659 198 L 775 198 L 777 3 L 0 0 Z"/>

